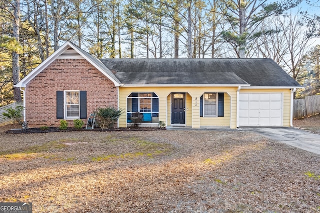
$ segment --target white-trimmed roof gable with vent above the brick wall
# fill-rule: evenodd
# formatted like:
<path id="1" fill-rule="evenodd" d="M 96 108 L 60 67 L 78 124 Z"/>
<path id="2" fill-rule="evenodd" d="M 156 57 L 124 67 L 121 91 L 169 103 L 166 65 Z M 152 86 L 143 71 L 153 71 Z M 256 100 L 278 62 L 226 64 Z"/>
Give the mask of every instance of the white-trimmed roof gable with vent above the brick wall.
<path id="1" fill-rule="evenodd" d="M 103 75 L 110 79 L 115 86 L 119 86 L 120 81 L 114 76 L 114 74 L 103 64 L 100 60 L 96 59 L 89 53 L 85 52 L 81 48 L 67 41 L 41 64 L 34 68 L 27 76 L 21 81 L 15 84 L 15 87 L 25 87 L 37 74 L 50 65 L 55 59 L 86 59 L 96 69 L 98 69 Z"/>

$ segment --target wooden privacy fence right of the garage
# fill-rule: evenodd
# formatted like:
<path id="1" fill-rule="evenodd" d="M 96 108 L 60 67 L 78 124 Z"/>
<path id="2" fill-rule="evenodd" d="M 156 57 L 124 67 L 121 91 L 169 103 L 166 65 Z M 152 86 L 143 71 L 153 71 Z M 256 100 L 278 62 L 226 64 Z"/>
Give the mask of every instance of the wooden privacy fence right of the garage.
<path id="1" fill-rule="evenodd" d="M 306 118 L 320 113 L 320 95 L 293 100 L 293 119 Z"/>

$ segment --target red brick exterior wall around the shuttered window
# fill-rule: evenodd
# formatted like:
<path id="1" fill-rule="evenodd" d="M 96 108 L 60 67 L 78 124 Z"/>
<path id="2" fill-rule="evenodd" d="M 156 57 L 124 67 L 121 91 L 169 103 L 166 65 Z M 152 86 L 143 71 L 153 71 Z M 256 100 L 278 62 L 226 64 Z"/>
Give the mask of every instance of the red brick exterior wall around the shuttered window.
<path id="1" fill-rule="evenodd" d="M 25 88 L 25 112 L 29 127 L 58 127 L 56 91 L 85 90 L 86 113 L 98 107 L 117 107 L 117 88 L 85 59 L 56 59 Z M 86 124 L 86 119 L 82 119 Z M 72 120 L 67 120 L 69 127 Z"/>

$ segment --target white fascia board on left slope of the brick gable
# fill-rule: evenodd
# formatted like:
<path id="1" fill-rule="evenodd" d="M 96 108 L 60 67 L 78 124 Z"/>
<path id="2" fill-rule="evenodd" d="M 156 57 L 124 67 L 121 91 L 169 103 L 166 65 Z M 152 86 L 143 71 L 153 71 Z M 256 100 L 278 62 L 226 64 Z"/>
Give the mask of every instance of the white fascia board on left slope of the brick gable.
<path id="1" fill-rule="evenodd" d="M 53 52 L 47 59 L 35 67 L 29 74 L 27 74 L 22 80 L 17 84 L 13 85 L 14 87 L 25 87 L 37 74 L 39 74 L 43 69 L 50 65 L 64 50 L 70 46 L 69 42 L 64 43 L 59 49 Z"/>

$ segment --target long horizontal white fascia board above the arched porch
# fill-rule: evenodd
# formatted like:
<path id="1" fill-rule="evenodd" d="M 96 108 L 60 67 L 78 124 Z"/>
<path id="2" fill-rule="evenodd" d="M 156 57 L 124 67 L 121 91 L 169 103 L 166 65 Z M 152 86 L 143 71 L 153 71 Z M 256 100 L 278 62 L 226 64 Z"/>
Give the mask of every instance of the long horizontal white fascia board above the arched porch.
<path id="1" fill-rule="evenodd" d="M 120 84 L 121 87 L 238 87 L 250 84 Z"/>

